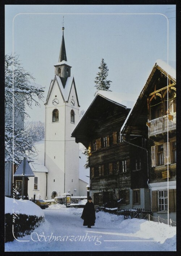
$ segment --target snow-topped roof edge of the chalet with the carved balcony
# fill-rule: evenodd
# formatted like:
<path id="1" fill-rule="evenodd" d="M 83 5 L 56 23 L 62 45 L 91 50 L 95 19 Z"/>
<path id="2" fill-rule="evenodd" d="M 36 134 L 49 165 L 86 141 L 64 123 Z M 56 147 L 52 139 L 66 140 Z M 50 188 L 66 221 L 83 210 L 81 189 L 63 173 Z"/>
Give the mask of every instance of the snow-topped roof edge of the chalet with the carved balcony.
<path id="1" fill-rule="evenodd" d="M 176 69 L 174 69 L 173 67 L 171 67 L 170 65 L 168 65 L 165 61 L 160 60 L 160 59 L 156 60 L 156 63 L 155 63 L 155 65 L 153 66 L 152 71 L 153 71 L 153 69 L 154 69 L 155 67 L 157 67 L 157 66 L 159 66 L 161 69 L 163 69 L 163 71 L 165 71 L 168 75 L 170 75 L 171 77 L 173 77 L 173 79 L 176 80 Z M 152 73 L 152 71 L 150 72 L 150 74 Z M 150 77 L 150 76 L 149 76 L 149 77 Z M 147 81 L 148 81 L 148 79 L 147 79 Z M 133 111 L 133 109 L 135 108 L 135 105 L 136 105 L 136 103 L 137 103 L 139 97 L 143 95 L 144 88 L 146 87 L 147 81 L 146 81 L 146 83 L 145 83 L 145 85 L 144 85 L 142 91 L 140 92 L 140 94 L 139 94 L 138 97 L 136 98 L 136 101 L 135 101 L 135 103 L 133 104 L 133 107 L 131 108 L 131 111 L 130 111 L 129 114 L 127 115 L 127 118 L 126 118 L 125 122 L 123 123 L 123 125 L 122 125 L 122 127 L 121 127 L 121 130 L 120 130 L 121 133 L 123 132 L 124 128 L 126 127 L 127 120 L 129 119 L 130 115 L 132 114 L 132 111 Z"/>

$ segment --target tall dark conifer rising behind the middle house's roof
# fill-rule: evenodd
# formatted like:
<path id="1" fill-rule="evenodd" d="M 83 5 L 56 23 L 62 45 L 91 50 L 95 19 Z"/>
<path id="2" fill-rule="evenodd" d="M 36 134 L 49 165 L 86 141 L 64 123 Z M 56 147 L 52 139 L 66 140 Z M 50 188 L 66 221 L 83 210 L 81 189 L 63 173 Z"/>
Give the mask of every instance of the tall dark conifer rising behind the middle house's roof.
<path id="1" fill-rule="evenodd" d="M 101 63 L 98 69 L 100 71 L 97 73 L 97 76 L 95 77 L 96 80 L 94 81 L 96 83 L 96 85 L 94 85 L 96 87 L 96 92 L 94 93 L 94 96 L 99 90 L 111 91 L 109 87 L 112 81 L 106 80 L 109 69 L 107 67 L 107 64 L 104 62 L 104 59 L 101 60 Z"/>

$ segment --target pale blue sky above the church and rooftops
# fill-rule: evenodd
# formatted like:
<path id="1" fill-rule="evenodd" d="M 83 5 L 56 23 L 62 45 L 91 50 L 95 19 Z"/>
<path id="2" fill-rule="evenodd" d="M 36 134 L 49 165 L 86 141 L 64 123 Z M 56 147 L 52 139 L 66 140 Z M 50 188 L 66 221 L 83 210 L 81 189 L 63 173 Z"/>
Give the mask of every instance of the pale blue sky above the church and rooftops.
<path id="1" fill-rule="evenodd" d="M 22 66 L 45 87 L 46 99 L 59 58 L 64 15 L 67 61 L 80 110 L 86 111 L 94 99 L 102 58 L 109 68 L 110 89 L 136 95 L 157 59 L 167 61 L 168 56 L 176 61 L 175 10 L 167 4 L 6 5 L 5 53 L 20 55 Z M 43 102 L 29 113 L 29 121 L 45 121 Z"/>

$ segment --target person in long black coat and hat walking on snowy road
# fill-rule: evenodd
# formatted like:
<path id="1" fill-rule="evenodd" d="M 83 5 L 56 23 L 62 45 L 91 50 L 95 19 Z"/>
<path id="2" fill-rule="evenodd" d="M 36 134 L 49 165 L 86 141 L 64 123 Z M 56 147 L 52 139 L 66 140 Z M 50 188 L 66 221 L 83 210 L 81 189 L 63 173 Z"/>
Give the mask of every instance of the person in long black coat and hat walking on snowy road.
<path id="1" fill-rule="evenodd" d="M 96 220 L 96 213 L 94 204 L 92 203 L 92 198 L 90 196 L 88 198 L 88 202 L 84 206 L 81 219 L 84 220 L 83 226 L 87 226 L 88 228 L 94 226 Z"/>

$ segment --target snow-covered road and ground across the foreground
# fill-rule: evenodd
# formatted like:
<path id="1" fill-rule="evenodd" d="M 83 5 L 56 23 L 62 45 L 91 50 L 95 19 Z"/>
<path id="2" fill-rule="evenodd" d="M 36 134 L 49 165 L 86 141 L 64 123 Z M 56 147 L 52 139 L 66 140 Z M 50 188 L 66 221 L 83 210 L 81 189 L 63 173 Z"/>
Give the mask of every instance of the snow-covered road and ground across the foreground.
<path id="1" fill-rule="evenodd" d="M 96 212 L 95 226 L 90 229 L 80 218 L 83 208 L 56 204 L 42 211 L 45 222 L 31 235 L 5 243 L 6 252 L 176 251 L 176 227 L 163 223 Z"/>

